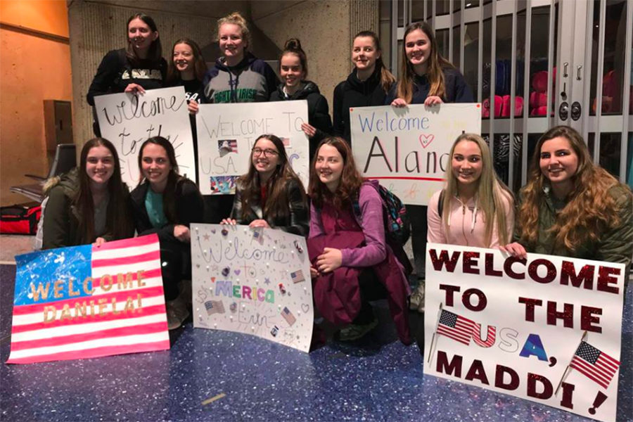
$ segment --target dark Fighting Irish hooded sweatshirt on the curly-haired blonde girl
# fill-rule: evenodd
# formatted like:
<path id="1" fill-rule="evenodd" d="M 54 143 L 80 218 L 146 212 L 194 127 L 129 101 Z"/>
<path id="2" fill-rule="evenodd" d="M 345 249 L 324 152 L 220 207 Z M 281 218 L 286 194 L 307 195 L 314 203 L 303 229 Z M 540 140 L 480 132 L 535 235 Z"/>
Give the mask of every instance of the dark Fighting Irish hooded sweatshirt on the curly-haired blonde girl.
<path id="1" fill-rule="evenodd" d="M 245 53 L 238 65 L 230 67 L 224 57 L 207 71 L 203 80 L 203 103 L 260 103 L 268 101 L 279 78 L 264 60 Z"/>

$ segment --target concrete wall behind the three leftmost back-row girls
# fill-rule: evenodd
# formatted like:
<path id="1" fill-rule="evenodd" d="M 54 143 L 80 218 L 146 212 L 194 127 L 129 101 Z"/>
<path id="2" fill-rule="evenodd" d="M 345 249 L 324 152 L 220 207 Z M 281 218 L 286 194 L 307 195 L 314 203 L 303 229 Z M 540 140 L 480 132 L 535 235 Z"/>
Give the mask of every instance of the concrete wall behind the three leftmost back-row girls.
<path id="1" fill-rule="evenodd" d="M 103 56 L 126 46 L 125 23 L 130 15 L 151 15 L 158 26 L 162 54 L 167 58 L 177 39 L 189 37 L 203 47 L 215 39 L 217 18 L 233 11 L 248 16 L 249 10 L 248 1 L 73 1 L 68 17 L 77 146 L 94 136 L 86 93 Z"/>

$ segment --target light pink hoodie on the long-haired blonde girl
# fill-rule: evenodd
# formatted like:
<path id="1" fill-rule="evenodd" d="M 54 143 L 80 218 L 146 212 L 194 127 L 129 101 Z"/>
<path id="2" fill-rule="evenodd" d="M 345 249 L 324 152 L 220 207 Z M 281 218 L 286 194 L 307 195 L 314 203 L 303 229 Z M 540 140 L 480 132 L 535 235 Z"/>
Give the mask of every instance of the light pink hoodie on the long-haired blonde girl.
<path id="1" fill-rule="evenodd" d="M 483 212 L 476 210 L 475 214 L 475 200 L 473 198 L 466 204 L 461 203 L 459 198 L 453 197 L 451 199 L 449 233 L 446 234 L 442 217 L 438 214 L 437 203 L 440 200 L 440 192 L 435 192 L 428 203 L 428 242 L 475 246 L 477 248 L 499 248 L 497 224 L 493 226 L 490 245 L 485 244 L 486 225 Z M 508 240 L 511 241 L 514 230 L 514 204 L 508 196 L 503 196 L 503 200 Z"/>

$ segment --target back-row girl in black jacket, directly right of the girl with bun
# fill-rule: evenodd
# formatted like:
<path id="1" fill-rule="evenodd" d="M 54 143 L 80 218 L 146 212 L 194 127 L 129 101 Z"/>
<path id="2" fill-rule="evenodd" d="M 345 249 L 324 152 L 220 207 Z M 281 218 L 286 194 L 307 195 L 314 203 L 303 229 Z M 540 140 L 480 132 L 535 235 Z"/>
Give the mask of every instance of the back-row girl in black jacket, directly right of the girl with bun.
<path id="1" fill-rule="evenodd" d="M 359 32 L 352 45 L 354 70 L 334 89 L 333 129 L 351 144 L 350 108 L 383 106 L 395 77 L 383 65 L 381 41 L 371 31 Z"/>

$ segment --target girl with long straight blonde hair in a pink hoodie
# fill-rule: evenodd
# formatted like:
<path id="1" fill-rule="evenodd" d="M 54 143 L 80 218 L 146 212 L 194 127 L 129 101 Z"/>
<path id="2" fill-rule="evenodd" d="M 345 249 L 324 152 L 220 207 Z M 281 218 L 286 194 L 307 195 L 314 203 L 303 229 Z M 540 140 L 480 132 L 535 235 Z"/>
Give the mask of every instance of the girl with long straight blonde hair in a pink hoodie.
<path id="1" fill-rule="evenodd" d="M 498 248 L 511 241 L 514 200 L 492 166 L 487 143 L 461 134 L 451 148 L 447 183 L 428 204 L 428 242 Z"/>

